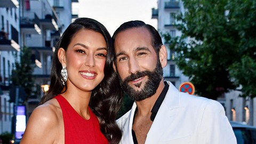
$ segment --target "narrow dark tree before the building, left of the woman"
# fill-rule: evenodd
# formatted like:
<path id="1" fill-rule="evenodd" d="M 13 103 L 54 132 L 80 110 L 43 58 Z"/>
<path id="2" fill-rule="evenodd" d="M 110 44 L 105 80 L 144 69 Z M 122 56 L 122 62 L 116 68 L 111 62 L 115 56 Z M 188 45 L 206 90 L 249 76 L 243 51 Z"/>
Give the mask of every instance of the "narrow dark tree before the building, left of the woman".
<path id="1" fill-rule="evenodd" d="M 33 71 L 34 65 L 31 61 L 31 51 L 28 47 L 24 46 L 20 52 L 20 62 L 15 61 L 15 70 L 12 71 L 12 84 L 13 86 L 20 86 L 25 89 L 27 100 L 34 87 Z"/>

